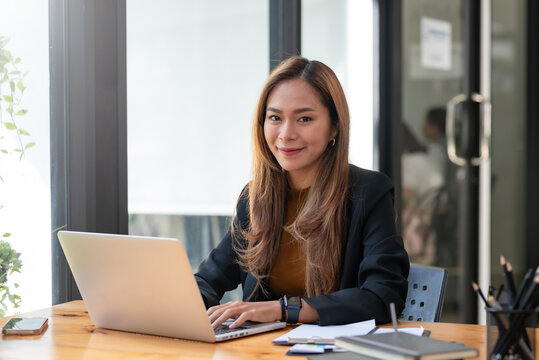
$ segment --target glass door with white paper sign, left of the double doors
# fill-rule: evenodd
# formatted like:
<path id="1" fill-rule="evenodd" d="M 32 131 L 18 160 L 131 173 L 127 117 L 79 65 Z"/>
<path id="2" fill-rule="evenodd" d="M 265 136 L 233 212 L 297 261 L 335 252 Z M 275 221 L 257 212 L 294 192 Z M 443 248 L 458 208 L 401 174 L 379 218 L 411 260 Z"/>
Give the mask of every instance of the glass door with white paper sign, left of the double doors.
<path id="1" fill-rule="evenodd" d="M 476 317 L 479 124 L 488 115 L 478 16 L 466 1 L 402 2 L 402 233 L 412 262 L 448 269 L 442 319 L 458 322 Z"/>

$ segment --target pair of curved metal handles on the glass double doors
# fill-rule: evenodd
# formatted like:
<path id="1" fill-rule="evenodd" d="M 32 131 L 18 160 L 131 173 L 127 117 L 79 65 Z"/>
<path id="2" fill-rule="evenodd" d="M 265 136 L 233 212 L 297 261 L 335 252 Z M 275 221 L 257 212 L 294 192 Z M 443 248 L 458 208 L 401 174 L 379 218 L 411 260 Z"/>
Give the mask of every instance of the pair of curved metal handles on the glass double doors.
<path id="1" fill-rule="evenodd" d="M 479 157 L 472 157 L 470 163 L 479 166 L 490 157 L 490 134 L 491 134 L 491 104 L 487 98 L 478 93 L 472 93 L 471 100 L 479 103 L 480 117 L 482 118 L 481 140 Z M 447 103 L 447 113 L 445 120 L 445 133 L 447 136 L 447 155 L 452 163 L 458 166 L 466 165 L 466 159 L 457 155 L 457 146 L 455 141 L 455 107 L 461 102 L 466 101 L 466 95 L 458 94 Z"/>

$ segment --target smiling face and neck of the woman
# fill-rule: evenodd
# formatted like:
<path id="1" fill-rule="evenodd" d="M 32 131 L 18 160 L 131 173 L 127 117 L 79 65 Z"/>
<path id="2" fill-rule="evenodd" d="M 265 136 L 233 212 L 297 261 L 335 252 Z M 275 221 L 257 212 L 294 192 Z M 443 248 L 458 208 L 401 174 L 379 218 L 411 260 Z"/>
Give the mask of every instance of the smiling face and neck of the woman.
<path id="1" fill-rule="evenodd" d="M 322 154 L 337 135 L 318 92 L 301 79 L 283 81 L 266 103 L 266 142 L 295 189 L 311 186 Z"/>

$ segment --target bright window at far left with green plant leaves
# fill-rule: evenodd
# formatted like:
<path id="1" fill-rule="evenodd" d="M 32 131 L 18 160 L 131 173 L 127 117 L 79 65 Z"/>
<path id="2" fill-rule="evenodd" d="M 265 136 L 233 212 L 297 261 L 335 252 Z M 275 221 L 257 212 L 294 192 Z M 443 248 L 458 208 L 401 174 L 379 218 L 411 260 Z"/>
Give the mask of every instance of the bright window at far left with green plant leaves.
<path id="1" fill-rule="evenodd" d="M 7 243 L 22 262 L 7 282 L 20 307 L 6 299 L 6 314 L 51 305 L 47 14 L 43 1 L 0 3 L 0 256 L 16 259 Z"/>

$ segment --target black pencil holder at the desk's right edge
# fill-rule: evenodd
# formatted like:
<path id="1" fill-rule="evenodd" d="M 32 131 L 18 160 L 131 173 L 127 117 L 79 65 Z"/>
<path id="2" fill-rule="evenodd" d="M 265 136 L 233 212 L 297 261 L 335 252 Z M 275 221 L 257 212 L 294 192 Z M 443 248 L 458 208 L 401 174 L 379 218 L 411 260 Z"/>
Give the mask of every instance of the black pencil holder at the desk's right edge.
<path id="1" fill-rule="evenodd" d="M 487 307 L 486 311 L 487 359 L 538 359 L 535 337 L 538 309 Z"/>

